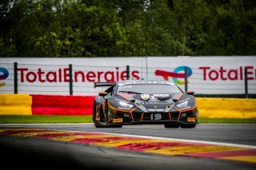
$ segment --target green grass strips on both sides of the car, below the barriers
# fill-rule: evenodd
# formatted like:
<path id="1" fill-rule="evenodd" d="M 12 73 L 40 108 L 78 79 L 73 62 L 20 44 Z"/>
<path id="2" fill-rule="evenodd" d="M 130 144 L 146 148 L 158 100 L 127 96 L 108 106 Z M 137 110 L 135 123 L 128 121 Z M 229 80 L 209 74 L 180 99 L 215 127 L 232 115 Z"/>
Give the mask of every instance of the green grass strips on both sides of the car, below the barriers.
<path id="1" fill-rule="evenodd" d="M 92 116 L 16 116 L 0 115 L 0 124 L 43 124 L 43 123 L 92 123 Z M 218 119 L 198 117 L 198 123 L 241 123 L 256 124 L 256 119 Z"/>

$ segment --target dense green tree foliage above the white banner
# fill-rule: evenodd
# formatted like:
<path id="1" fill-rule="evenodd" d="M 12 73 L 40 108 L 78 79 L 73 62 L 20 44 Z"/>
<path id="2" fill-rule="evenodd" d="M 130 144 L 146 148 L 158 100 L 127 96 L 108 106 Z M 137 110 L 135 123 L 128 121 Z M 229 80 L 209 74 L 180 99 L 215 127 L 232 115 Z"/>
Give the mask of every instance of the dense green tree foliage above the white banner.
<path id="1" fill-rule="evenodd" d="M 254 0 L 2 0 L 0 57 L 255 55 Z"/>

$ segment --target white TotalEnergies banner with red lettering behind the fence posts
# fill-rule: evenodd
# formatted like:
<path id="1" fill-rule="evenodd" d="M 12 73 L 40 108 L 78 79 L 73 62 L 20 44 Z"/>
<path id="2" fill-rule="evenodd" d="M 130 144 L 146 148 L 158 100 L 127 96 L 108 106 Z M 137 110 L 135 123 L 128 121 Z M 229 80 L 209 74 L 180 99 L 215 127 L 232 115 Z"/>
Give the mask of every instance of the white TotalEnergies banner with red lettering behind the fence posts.
<path id="1" fill-rule="evenodd" d="M 18 63 L 18 93 L 97 95 L 95 81 L 141 78 L 174 81 L 182 89 L 187 69 L 188 89 L 197 94 L 256 93 L 256 57 L 5 57 L 0 58 L 0 93 L 14 93 L 14 62 Z M 245 75 L 247 69 L 247 75 Z"/>

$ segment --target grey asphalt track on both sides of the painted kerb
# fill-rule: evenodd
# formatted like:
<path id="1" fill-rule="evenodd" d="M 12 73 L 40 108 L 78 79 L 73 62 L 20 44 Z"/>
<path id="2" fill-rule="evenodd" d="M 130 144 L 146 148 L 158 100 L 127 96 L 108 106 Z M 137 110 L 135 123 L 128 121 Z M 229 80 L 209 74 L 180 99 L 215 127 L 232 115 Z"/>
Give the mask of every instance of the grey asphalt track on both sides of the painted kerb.
<path id="1" fill-rule="evenodd" d="M 79 132 L 110 132 L 183 140 L 246 144 L 256 148 L 256 125 L 199 124 L 196 128 L 126 125 L 94 128 L 92 124 L 0 125 L 0 128 L 42 128 Z M 0 135 L 0 169 L 256 169 L 256 164 L 233 160 L 164 156 L 64 141 Z"/>

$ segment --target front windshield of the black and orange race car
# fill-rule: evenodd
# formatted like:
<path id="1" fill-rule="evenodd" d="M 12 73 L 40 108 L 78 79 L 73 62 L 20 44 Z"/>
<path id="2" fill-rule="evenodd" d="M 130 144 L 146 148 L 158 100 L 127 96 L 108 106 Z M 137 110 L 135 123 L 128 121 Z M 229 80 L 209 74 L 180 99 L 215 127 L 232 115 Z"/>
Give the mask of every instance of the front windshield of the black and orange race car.
<path id="1" fill-rule="evenodd" d="M 175 85 L 135 84 L 135 85 L 120 85 L 120 86 L 118 86 L 118 93 L 163 94 L 163 93 L 182 93 L 182 91 L 180 89 L 178 89 L 178 87 Z"/>

